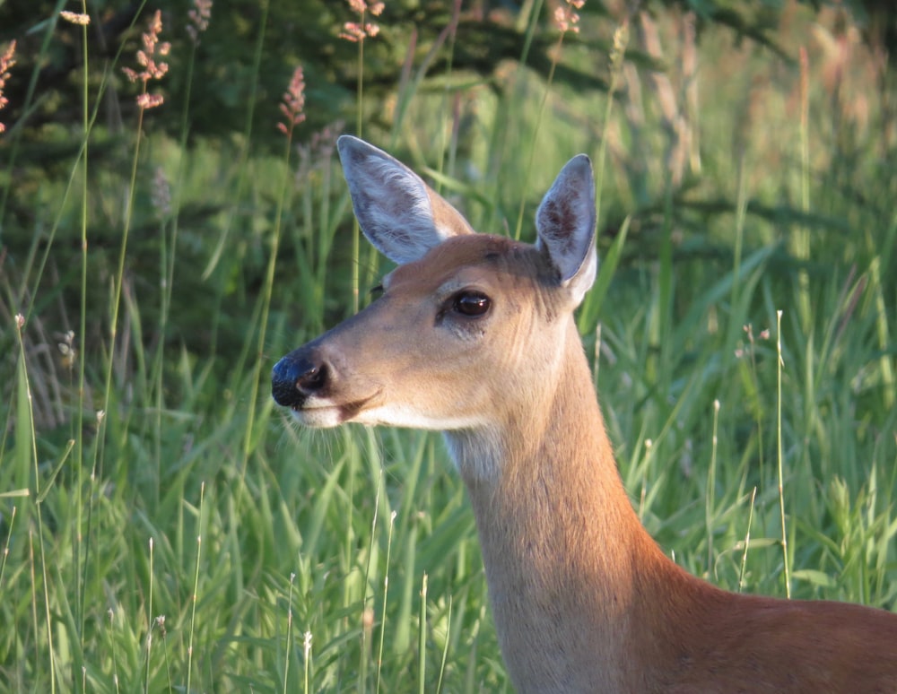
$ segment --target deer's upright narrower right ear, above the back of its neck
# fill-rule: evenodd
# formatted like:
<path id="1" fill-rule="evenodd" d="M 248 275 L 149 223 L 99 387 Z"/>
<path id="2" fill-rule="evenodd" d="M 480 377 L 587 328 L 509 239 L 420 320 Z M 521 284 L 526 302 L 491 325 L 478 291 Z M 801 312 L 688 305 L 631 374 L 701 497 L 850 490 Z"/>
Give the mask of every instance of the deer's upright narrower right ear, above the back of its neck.
<path id="1" fill-rule="evenodd" d="M 577 305 L 597 273 L 595 221 L 592 162 L 579 154 L 561 169 L 536 212 L 536 246 L 548 256 Z"/>

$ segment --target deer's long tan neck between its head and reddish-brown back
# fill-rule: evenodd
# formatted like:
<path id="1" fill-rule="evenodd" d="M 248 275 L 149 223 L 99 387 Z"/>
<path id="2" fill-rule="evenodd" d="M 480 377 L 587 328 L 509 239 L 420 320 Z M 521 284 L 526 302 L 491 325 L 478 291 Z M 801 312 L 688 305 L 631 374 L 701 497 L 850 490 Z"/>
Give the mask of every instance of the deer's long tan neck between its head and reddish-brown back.
<path id="1" fill-rule="evenodd" d="M 449 434 L 448 443 L 518 690 L 619 690 L 614 664 L 631 658 L 648 626 L 645 595 L 677 569 L 623 489 L 572 321 L 553 383 L 544 402 L 521 404 L 497 429 Z M 584 676 L 578 660 L 596 663 L 588 682 L 570 679 Z"/>

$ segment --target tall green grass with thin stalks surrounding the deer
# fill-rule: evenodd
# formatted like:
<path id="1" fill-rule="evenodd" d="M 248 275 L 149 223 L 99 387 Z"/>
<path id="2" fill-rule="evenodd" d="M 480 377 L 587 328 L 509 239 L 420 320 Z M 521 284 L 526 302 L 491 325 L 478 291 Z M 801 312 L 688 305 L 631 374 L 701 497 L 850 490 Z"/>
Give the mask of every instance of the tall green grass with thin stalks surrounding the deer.
<path id="1" fill-rule="evenodd" d="M 677 21 L 658 19 L 674 84 Z M 606 71 L 614 28 L 592 15 L 560 59 Z M 492 90 L 413 65 L 394 121 L 361 88 L 346 115 L 480 230 L 514 234 L 523 209 L 531 238 L 562 163 L 603 162 L 578 319 L 650 533 L 719 586 L 893 610 L 897 149 L 866 54 L 839 93 L 811 58 L 801 96 L 797 63 L 708 28 L 681 182 L 657 92 L 642 79 L 637 100 L 625 73 L 611 107 L 526 69 Z M 3 179 L 34 217 L 0 217 L 0 690 L 510 690 L 440 438 L 301 430 L 267 395 L 274 361 L 386 266 L 353 251 L 332 147 L 297 126 L 300 156 L 257 152 L 252 108 L 242 137 L 187 138 L 189 92 L 113 137 L 94 120 L 107 86 L 84 90 L 65 171 Z"/>

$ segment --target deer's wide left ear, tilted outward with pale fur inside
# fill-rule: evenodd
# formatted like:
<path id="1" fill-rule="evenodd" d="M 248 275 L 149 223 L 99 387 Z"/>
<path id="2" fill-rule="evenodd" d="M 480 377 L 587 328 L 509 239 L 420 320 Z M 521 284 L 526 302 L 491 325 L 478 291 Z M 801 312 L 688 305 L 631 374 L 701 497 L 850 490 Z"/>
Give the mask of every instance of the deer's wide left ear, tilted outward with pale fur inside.
<path id="1" fill-rule="evenodd" d="M 405 164 L 352 135 L 336 141 L 355 217 L 367 239 L 398 265 L 474 230 Z"/>

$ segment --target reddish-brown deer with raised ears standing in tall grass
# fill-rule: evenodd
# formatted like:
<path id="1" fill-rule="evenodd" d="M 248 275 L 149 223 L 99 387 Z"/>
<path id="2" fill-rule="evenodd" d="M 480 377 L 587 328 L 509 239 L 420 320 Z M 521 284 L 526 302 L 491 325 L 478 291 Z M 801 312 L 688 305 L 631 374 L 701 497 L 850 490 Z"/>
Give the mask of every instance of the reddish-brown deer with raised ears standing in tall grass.
<path id="1" fill-rule="evenodd" d="M 337 143 L 364 236 L 396 268 L 367 308 L 276 362 L 311 428 L 443 432 L 520 694 L 897 692 L 897 614 L 727 592 L 640 523 L 573 319 L 597 274 L 591 162 L 570 160 L 536 243 L 476 233 L 370 143 Z"/>

